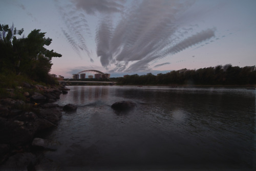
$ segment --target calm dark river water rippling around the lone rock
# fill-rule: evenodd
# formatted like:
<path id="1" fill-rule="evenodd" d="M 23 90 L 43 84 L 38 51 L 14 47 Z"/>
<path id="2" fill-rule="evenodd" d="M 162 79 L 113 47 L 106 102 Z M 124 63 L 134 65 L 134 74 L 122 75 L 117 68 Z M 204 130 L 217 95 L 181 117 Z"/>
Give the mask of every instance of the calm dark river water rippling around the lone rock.
<path id="1" fill-rule="evenodd" d="M 45 156 L 64 170 L 255 168 L 255 90 L 244 88 L 69 87 Z M 116 101 L 137 108 L 116 112 Z"/>

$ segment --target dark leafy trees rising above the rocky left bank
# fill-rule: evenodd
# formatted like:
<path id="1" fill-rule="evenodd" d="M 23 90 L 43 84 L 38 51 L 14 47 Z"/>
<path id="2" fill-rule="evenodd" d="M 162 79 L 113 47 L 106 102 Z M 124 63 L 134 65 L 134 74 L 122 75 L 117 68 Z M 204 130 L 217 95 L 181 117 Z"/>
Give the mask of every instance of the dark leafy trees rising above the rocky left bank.
<path id="1" fill-rule="evenodd" d="M 52 42 L 43 32 L 35 29 L 27 37 L 22 35 L 24 29 L 17 30 L 12 25 L 0 24 L 0 74 L 24 75 L 32 80 L 51 83 L 49 72 L 52 67 L 52 57 L 61 57 L 61 54 L 48 50 Z"/>

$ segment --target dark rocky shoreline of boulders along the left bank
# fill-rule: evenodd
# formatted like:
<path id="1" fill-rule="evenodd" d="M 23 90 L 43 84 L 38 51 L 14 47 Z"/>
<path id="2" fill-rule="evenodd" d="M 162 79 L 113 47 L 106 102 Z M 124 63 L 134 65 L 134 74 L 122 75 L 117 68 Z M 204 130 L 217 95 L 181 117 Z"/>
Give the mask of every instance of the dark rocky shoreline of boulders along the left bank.
<path id="1" fill-rule="evenodd" d="M 0 170 L 37 170 L 45 162 L 38 152 L 56 150 L 52 142 L 37 137 L 38 134 L 56 127 L 64 111 L 75 111 L 77 107 L 53 103 L 60 94 L 68 93 L 65 86 L 45 87 L 24 82 L 17 89 L 29 90 L 21 91 L 24 100 L 0 99 Z M 14 90 L 7 91 L 15 97 Z"/>

